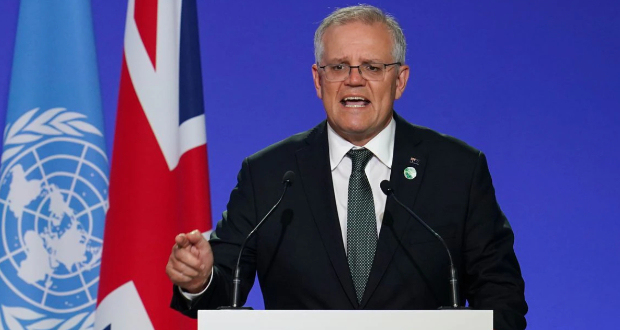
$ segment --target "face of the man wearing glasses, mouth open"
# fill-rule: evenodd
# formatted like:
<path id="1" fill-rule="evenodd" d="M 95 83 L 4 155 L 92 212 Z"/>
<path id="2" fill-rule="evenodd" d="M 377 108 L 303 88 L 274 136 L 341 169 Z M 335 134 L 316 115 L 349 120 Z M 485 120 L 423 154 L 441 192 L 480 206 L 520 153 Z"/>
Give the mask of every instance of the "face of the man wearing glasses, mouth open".
<path id="1" fill-rule="evenodd" d="M 393 63 L 392 46 L 390 32 L 382 23 L 331 26 L 323 35 L 320 65 Z M 327 81 L 325 72 L 316 64 L 312 66 L 314 87 L 323 100 L 327 121 L 336 133 L 355 145 L 365 145 L 389 124 L 394 100 L 405 90 L 409 67 L 389 66 L 386 70 L 381 81 L 367 81 L 355 68 L 344 81 Z M 352 97 L 363 101 L 353 101 Z"/>

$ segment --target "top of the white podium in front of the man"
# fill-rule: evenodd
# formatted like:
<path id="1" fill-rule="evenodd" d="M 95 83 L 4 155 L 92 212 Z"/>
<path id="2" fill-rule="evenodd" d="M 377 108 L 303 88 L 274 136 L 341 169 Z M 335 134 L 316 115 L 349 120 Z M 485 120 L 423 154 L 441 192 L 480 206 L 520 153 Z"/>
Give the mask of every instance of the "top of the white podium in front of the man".
<path id="1" fill-rule="evenodd" d="M 198 311 L 198 330 L 492 330 L 490 310 L 215 310 Z"/>

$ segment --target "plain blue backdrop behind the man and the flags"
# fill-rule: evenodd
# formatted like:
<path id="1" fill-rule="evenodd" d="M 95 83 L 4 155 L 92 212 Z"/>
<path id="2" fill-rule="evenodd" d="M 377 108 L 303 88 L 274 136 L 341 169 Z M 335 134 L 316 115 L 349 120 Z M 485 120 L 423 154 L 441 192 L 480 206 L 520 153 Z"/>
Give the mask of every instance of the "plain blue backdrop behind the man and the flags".
<path id="1" fill-rule="evenodd" d="M 370 3 L 399 19 L 409 44 L 411 78 L 396 110 L 488 156 L 516 234 L 528 328 L 616 328 L 620 2 Z M 324 118 L 312 37 L 351 4 L 198 1 L 214 219 L 245 156 Z M 0 2 L 0 127 L 17 6 Z M 125 0 L 93 0 L 110 154 L 125 12 Z M 261 307 L 254 291 L 249 304 Z"/>

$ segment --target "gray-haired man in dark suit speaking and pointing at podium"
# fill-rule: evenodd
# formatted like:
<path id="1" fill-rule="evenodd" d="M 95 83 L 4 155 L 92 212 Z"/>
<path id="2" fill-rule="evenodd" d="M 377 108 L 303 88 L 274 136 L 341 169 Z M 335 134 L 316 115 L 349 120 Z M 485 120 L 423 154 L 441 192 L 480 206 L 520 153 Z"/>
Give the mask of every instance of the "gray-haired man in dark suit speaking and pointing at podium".
<path id="1" fill-rule="evenodd" d="M 371 6 L 323 21 L 312 69 L 327 120 L 244 160 L 209 242 L 199 232 L 177 236 L 166 267 L 173 308 L 195 317 L 230 304 L 240 245 L 292 170 L 295 183 L 243 255 L 243 300 L 257 272 L 268 309 L 449 305 L 447 254 L 381 192 L 379 182 L 389 179 L 452 251 L 461 303 L 494 310 L 498 330 L 525 328 L 513 233 L 484 155 L 392 110 L 409 77 L 405 48 L 396 21 Z"/>

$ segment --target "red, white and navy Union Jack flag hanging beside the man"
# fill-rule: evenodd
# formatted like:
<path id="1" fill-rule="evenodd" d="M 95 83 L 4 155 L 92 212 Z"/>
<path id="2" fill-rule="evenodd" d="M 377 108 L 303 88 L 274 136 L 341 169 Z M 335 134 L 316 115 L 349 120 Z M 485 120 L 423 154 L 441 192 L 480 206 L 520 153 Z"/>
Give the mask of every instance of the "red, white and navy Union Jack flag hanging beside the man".
<path id="1" fill-rule="evenodd" d="M 196 328 L 165 265 L 211 229 L 203 104 L 196 1 L 130 0 L 95 329 Z"/>

